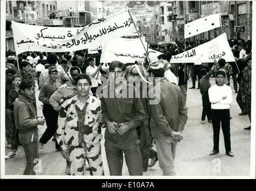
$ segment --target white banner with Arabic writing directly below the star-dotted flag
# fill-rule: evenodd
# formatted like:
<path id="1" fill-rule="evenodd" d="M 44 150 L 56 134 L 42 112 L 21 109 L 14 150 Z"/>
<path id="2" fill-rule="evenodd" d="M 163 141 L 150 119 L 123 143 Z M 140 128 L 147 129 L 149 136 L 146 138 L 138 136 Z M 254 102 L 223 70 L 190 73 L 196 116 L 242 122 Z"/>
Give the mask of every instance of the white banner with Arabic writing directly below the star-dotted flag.
<path id="1" fill-rule="evenodd" d="M 224 58 L 225 61 L 235 61 L 225 33 L 205 44 L 172 56 L 170 63 L 210 63 L 214 62 L 215 58 L 217 61 L 220 58 Z"/>

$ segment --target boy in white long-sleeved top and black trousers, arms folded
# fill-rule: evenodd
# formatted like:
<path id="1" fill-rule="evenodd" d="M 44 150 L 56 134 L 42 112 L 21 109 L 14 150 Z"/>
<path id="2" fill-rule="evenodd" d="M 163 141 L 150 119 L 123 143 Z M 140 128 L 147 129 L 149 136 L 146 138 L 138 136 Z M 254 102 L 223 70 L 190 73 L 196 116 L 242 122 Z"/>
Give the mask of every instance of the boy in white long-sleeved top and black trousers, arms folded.
<path id="1" fill-rule="evenodd" d="M 216 72 L 217 84 L 209 88 L 209 100 L 211 102 L 212 127 L 214 129 L 214 150 L 209 155 L 219 153 L 220 127 L 223 129 L 225 152 L 233 157 L 230 143 L 230 104 L 232 102 L 232 90 L 224 84 L 225 72 Z"/>

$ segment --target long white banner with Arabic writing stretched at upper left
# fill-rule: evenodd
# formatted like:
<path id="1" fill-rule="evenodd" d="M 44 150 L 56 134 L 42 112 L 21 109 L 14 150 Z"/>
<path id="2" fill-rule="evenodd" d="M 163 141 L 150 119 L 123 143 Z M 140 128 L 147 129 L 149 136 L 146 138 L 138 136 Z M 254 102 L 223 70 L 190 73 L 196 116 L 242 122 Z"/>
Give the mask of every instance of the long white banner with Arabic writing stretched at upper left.
<path id="1" fill-rule="evenodd" d="M 12 21 L 14 48 L 18 55 L 26 51 L 69 52 L 97 47 L 136 32 L 133 20 L 128 11 L 120 11 L 85 27 L 33 26 Z"/>

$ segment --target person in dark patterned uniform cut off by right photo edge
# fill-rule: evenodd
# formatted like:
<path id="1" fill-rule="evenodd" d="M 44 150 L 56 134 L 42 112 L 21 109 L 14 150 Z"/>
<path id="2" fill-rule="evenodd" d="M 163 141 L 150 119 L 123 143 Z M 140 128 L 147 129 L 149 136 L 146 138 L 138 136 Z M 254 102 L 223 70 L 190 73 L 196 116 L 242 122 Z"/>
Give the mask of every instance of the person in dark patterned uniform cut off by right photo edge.
<path id="1" fill-rule="evenodd" d="M 251 88 L 252 88 L 252 57 L 246 57 L 247 67 L 243 69 L 240 91 L 242 93 L 242 101 L 245 103 L 246 111 L 251 122 Z M 245 130 L 251 130 L 251 125 Z"/>

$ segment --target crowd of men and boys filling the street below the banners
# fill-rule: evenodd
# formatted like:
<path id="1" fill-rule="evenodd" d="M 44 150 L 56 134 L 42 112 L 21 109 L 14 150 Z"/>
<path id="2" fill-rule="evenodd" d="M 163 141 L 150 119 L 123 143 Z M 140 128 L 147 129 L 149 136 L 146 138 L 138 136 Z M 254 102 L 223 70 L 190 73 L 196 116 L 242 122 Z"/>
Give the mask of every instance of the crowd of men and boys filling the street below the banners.
<path id="1" fill-rule="evenodd" d="M 207 41 L 186 42 L 186 50 Z M 230 77 L 237 93 L 237 104 L 242 110 L 239 115 L 248 114 L 251 122 L 251 41 L 232 39 L 228 42 L 236 58 L 234 63 L 220 59 L 213 64 L 173 64 L 170 61 L 172 55 L 184 52 L 182 42 L 167 47 L 151 45 L 163 54 L 158 61 L 145 63 L 139 60 L 135 63 L 114 60 L 100 63 L 100 50 L 97 54 L 87 54 L 85 50 L 32 52 L 17 58 L 15 53 L 7 51 L 5 135 L 11 151 L 5 159 L 15 157 L 19 144 L 22 144 L 27 161 L 24 174 L 35 174 L 32 167 L 39 158 L 38 151 L 44 152 L 44 144 L 56 135 L 55 147 L 66 159 L 66 174 L 83 175 L 84 170 L 89 170 L 91 175 L 103 175 L 100 141 L 101 129 L 106 128 L 106 160 L 111 175 L 122 174 L 123 153 L 130 175 L 144 174 L 157 161 L 163 175 L 175 175 L 173 161 L 176 143 L 182 140 L 182 130 L 187 122 L 187 81 L 190 76 L 193 82 L 190 89 L 196 89 L 196 80 L 199 80 L 197 89 L 202 94 L 203 106 L 201 122 L 205 123 L 206 116 L 208 122 L 212 122 L 214 149 L 210 155 L 219 152 L 222 124 L 226 153 L 234 156 L 230 146 Z M 211 87 L 210 77 L 214 73 L 217 75 L 216 85 Z M 108 83 L 104 84 L 102 77 Z M 153 78 L 154 88 L 160 79 L 160 102 L 157 104 L 150 104 L 152 97 L 146 98 L 151 90 L 145 84 L 150 78 Z M 136 82 L 141 84 L 139 89 L 134 87 Z M 36 86 L 45 119 L 36 114 Z M 139 91 L 141 97 L 122 97 L 129 95 L 131 90 L 133 94 Z M 114 93 L 114 97 L 100 97 L 104 91 Z M 219 92 L 222 94 L 217 99 L 215 94 Z M 37 126 L 44 122 L 47 128 L 38 138 Z M 251 125 L 245 129 L 251 129 Z M 153 150 L 154 144 L 157 152 Z"/>

